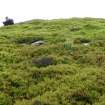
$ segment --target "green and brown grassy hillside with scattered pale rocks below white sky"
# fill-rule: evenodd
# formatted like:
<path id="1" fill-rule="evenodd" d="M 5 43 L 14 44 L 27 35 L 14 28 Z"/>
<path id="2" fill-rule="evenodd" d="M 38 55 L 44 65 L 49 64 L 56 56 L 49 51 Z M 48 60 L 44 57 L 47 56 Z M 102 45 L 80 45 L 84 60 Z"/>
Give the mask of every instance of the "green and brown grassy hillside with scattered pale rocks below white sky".
<path id="1" fill-rule="evenodd" d="M 0 105 L 105 105 L 105 20 L 1 27 Z"/>

